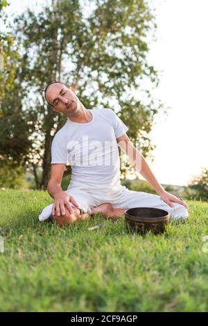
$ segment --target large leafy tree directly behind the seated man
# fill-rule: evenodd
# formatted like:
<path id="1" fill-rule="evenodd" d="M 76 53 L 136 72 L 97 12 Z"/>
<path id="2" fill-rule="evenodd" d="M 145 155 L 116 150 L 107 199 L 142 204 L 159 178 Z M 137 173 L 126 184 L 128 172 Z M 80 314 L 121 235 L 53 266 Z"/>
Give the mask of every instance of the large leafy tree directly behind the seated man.
<path id="1" fill-rule="evenodd" d="M 21 157 L 33 168 L 37 188 L 46 188 L 51 142 L 65 122 L 37 92 L 55 79 L 72 85 L 85 107 L 113 108 L 129 126 L 130 138 L 140 139 L 144 156 L 154 148 L 148 133 L 162 104 L 141 89 L 144 78 L 158 83 L 157 72 L 146 59 L 146 39 L 156 28 L 151 10 L 145 0 L 90 2 L 94 10 L 87 17 L 80 1 L 57 0 L 40 13 L 27 10 L 15 19 L 14 33 L 21 46 L 17 84 L 24 88 L 19 92 L 19 112 L 31 130 L 32 144 L 26 143 Z M 146 95 L 146 103 L 140 93 Z M 42 179 L 37 177 L 40 166 Z"/>

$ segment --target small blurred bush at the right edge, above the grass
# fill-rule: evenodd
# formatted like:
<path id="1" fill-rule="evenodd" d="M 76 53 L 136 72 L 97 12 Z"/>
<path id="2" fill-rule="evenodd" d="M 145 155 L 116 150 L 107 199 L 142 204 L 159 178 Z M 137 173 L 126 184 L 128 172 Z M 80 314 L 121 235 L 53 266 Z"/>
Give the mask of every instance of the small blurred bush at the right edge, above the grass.
<path id="1" fill-rule="evenodd" d="M 208 169 L 202 168 L 200 175 L 193 177 L 189 182 L 189 188 L 193 190 L 191 196 L 196 200 L 208 199 Z"/>

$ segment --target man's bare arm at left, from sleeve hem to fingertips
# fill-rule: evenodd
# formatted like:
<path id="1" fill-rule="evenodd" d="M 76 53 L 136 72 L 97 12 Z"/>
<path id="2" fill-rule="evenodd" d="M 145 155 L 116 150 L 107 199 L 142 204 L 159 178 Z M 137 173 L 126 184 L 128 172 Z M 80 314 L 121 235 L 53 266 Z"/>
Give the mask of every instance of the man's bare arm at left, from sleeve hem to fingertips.
<path id="1" fill-rule="evenodd" d="M 65 167 L 65 164 L 51 164 L 51 177 L 47 186 L 47 190 L 49 195 L 55 199 L 52 215 L 65 215 L 65 206 L 67 209 L 69 209 L 70 213 L 73 213 L 70 202 L 74 206 L 78 207 L 75 199 L 73 199 L 73 197 L 67 193 L 64 193 L 62 187 L 60 186 Z"/>

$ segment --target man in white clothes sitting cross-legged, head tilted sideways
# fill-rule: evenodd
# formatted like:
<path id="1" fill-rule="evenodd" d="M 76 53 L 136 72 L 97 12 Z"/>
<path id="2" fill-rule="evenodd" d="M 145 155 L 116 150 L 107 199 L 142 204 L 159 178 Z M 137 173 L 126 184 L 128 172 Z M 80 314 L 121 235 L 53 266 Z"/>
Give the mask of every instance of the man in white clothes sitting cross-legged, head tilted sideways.
<path id="1" fill-rule="evenodd" d="M 55 201 L 43 209 L 40 220 L 52 217 L 64 225 L 98 212 L 119 218 L 126 209 L 139 206 L 165 209 L 173 219 L 189 216 L 187 204 L 159 184 L 144 156 L 128 138 L 128 127 L 114 111 L 86 109 L 76 90 L 59 81 L 47 85 L 44 95 L 53 111 L 66 115 L 67 122 L 55 134 L 51 147 L 47 190 Z M 121 186 L 118 146 L 158 195 Z M 60 183 L 67 160 L 72 168 L 71 182 L 63 191 Z"/>

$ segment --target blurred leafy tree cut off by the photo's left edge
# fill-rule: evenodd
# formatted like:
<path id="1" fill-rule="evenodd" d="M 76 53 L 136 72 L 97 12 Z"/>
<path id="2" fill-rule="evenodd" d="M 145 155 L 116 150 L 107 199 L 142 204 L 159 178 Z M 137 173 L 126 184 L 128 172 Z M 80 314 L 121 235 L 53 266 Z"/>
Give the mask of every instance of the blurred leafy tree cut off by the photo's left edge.
<path id="1" fill-rule="evenodd" d="M 0 1 L 0 24 L 3 29 L 0 31 L 0 186 L 9 188 L 20 188 L 24 186 L 24 168 L 21 166 L 21 159 L 15 159 L 15 153 L 19 152 L 20 144 L 17 130 L 21 133 L 19 124 L 19 112 L 17 113 L 17 95 L 14 93 L 14 80 L 17 72 L 18 52 L 14 35 L 10 31 L 10 23 L 5 8 L 8 6 L 6 0 Z M 16 113 L 12 107 L 8 107 L 7 99 L 13 97 Z M 17 129 L 17 125 L 19 129 Z M 8 130 L 12 135 L 8 138 Z M 17 145 L 17 147 L 16 147 Z M 22 154 L 22 151 L 20 151 Z M 19 154 L 18 154 L 19 156 Z"/>

